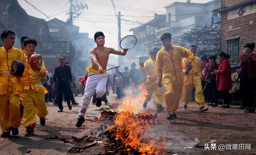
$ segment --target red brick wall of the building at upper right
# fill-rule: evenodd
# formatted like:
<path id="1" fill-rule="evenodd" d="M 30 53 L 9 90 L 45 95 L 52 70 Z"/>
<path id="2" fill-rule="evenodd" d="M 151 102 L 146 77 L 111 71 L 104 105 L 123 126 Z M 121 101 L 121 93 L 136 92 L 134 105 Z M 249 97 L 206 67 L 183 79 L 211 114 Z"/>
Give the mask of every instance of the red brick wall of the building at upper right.
<path id="1" fill-rule="evenodd" d="M 225 0 L 225 1 L 226 3 L 230 3 L 230 2 L 239 3 L 240 1 L 248 1 L 248 0 Z M 256 8 L 256 4 L 251 4 L 250 6 L 247 6 L 247 8 Z M 252 9 L 252 10 L 247 9 L 244 15 L 241 15 L 241 16 L 236 14 L 236 12 L 238 12 L 237 9 L 230 10 L 227 12 L 222 12 L 221 33 L 222 33 L 222 51 L 223 52 L 226 52 L 226 40 L 229 40 L 229 39 L 240 38 L 239 39 L 240 53 L 241 51 L 243 51 L 244 45 L 246 43 L 248 42 L 256 43 L 256 10 L 255 9 Z"/>

